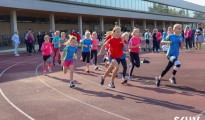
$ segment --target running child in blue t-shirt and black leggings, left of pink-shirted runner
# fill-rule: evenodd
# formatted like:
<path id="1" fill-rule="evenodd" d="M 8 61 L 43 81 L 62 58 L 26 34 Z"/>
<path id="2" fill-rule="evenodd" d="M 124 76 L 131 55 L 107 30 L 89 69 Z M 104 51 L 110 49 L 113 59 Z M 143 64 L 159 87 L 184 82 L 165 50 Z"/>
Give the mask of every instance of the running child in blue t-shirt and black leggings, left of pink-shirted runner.
<path id="1" fill-rule="evenodd" d="M 91 35 L 89 31 L 85 32 L 85 39 L 81 41 L 82 47 L 82 59 L 83 62 L 86 62 L 86 72 L 89 73 L 89 66 L 90 66 L 90 47 L 92 45 Z"/>

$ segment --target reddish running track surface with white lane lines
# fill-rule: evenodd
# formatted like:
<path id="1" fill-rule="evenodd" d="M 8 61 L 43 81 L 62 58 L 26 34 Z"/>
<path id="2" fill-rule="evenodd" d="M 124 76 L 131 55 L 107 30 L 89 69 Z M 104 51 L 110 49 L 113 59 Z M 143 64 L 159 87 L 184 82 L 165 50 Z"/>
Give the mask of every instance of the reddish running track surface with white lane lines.
<path id="1" fill-rule="evenodd" d="M 174 120 L 175 117 L 200 117 L 205 119 L 205 51 L 181 51 L 182 67 L 177 73 L 177 85 L 169 83 L 169 73 L 162 86 L 157 88 L 154 77 L 167 64 L 164 53 L 142 53 L 149 64 L 134 70 L 134 80 L 122 85 L 121 77 L 116 88 L 99 85 L 99 75 L 105 67 L 85 72 L 85 64 L 75 62 L 76 87 L 68 86 L 69 74 L 64 75 L 60 66 L 54 66 L 47 76 L 42 72 L 42 56 L 21 54 L 0 56 L 0 116 L 11 119 L 88 120 L 133 119 Z M 99 58 L 102 59 L 102 58 Z M 121 70 L 120 70 L 121 71 Z M 119 75 L 120 76 L 120 75 Z M 12 113 L 12 114 L 11 114 Z"/>

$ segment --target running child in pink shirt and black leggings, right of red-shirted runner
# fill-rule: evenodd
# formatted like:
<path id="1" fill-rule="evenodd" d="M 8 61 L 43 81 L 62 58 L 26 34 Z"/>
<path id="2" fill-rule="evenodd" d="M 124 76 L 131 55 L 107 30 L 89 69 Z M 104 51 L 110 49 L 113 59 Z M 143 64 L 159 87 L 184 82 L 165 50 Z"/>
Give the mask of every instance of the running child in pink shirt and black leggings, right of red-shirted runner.
<path id="1" fill-rule="evenodd" d="M 132 80 L 132 73 L 134 70 L 134 66 L 140 67 L 140 57 L 139 51 L 141 46 L 141 38 L 140 38 L 140 30 L 135 28 L 132 31 L 132 38 L 129 42 L 129 49 L 130 49 L 130 66 L 129 66 L 129 80 Z"/>

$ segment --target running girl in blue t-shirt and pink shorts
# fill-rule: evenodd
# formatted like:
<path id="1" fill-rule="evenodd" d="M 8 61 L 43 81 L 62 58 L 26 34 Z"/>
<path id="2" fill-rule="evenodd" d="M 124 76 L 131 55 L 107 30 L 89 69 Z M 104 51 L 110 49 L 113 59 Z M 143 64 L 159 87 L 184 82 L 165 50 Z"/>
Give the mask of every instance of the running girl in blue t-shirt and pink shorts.
<path id="1" fill-rule="evenodd" d="M 75 36 L 70 36 L 70 39 L 65 43 L 66 47 L 63 50 L 61 59 L 63 60 L 63 72 L 67 73 L 68 69 L 70 70 L 70 84 L 69 86 L 75 87 L 73 80 L 73 71 L 74 71 L 74 59 L 77 60 L 77 38 Z"/>

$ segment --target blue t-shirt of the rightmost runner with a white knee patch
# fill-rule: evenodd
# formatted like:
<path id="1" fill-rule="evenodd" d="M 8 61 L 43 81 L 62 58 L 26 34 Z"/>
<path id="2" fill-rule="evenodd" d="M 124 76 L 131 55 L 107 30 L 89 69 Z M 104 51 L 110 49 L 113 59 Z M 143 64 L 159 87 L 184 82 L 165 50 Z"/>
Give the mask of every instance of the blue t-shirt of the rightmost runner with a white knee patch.
<path id="1" fill-rule="evenodd" d="M 181 40 L 183 39 L 182 36 L 177 36 L 175 34 L 171 34 L 171 35 L 167 36 L 165 41 L 172 42 L 172 44 L 169 45 L 167 56 L 175 56 L 175 57 L 179 56 L 179 48 L 181 46 L 180 39 Z"/>

